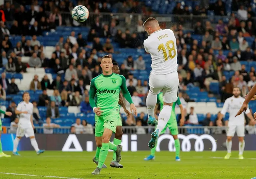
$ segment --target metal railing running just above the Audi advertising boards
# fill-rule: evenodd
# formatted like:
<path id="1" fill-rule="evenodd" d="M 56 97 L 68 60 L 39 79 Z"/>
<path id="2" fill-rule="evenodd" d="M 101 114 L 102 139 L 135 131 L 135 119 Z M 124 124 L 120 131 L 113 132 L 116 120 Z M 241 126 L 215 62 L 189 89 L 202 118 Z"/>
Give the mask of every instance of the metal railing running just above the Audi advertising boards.
<path id="1" fill-rule="evenodd" d="M 44 134 L 44 127 L 36 126 L 36 133 Z M 154 131 L 154 126 L 123 126 L 124 134 L 151 134 Z M 8 134 L 13 134 L 15 131 L 10 130 L 10 126 L 6 127 Z M 94 129 L 94 127 L 93 127 Z M 143 132 L 144 129 L 145 132 Z M 178 127 L 179 134 L 223 134 L 226 131 L 226 127 L 217 126 L 182 126 Z M 69 134 L 70 127 L 54 128 L 54 134 Z M 169 130 L 166 134 L 170 134 Z"/>

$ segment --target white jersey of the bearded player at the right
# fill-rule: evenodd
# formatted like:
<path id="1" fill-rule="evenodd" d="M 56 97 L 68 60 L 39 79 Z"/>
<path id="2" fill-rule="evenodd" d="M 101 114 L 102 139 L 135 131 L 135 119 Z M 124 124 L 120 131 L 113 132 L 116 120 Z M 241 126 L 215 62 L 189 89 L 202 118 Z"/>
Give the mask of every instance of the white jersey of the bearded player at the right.
<path id="1" fill-rule="evenodd" d="M 236 116 L 236 113 L 240 110 L 244 100 L 245 99 L 241 96 L 239 96 L 238 98 L 232 96 L 225 100 L 224 106 L 220 113 L 225 116 L 226 112 L 229 112 L 228 125 L 244 125 L 244 113 L 240 114 L 239 116 Z M 245 114 L 248 113 L 250 113 L 249 107 L 245 111 Z"/>

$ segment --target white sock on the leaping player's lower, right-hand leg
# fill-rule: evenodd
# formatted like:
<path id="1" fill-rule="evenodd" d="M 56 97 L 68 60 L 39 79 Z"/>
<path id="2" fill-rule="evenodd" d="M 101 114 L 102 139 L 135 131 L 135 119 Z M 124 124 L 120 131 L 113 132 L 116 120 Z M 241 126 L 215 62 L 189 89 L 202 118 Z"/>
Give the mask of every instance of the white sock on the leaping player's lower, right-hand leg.
<path id="1" fill-rule="evenodd" d="M 164 127 L 166 126 L 168 120 L 170 119 L 172 114 L 172 106 L 165 105 L 163 106 L 163 109 L 161 110 L 159 116 L 158 116 L 158 124 L 156 126 L 156 130 L 159 129 L 160 134 Z"/>

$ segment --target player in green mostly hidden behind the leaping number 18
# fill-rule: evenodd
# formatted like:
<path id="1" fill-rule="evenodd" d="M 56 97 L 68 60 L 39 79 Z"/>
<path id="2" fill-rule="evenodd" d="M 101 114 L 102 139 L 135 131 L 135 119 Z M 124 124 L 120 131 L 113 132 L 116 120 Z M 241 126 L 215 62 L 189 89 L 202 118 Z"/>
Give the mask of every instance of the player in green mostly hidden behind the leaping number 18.
<path id="1" fill-rule="evenodd" d="M 162 110 L 163 105 L 164 105 L 164 100 L 163 100 L 163 93 L 160 92 L 157 95 L 157 104 L 160 105 L 160 110 Z M 176 102 L 174 102 L 172 104 L 172 114 L 171 117 L 169 119 L 169 121 L 167 122 L 166 126 L 164 127 L 164 129 L 162 130 L 162 132 L 160 133 L 160 135 L 164 134 L 166 132 L 166 128 L 168 127 L 170 130 L 171 135 L 174 138 L 174 147 L 176 149 L 175 153 L 176 153 L 176 161 L 180 161 L 180 140 L 178 139 L 178 124 L 177 124 L 177 120 L 176 120 L 176 114 L 175 114 L 175 106 L 176 104 L 178 104 L 178 106 L 180 107 L 180 113 L 181 113 L 181 120 L 180 123 L 181 125 L 184 124 L 184 119 L 185 119 L 185 112 L 183 109 L 183 106 L 180 102 L 180 98 L 178 97 L 178 100 Z M 158 108 L 158 105 L 156 105 L 155 108 L 155 118 L 157 119 L 157 115 L 156 115 L 156 110 Z M 160 136 L 159 135 L 159 136 Z M 155 152 L 156 152 L 156 146 L 154 148 L 152 148 L 150 155 L 148 155 L 148 157 L 144 158 L 144 160 L 153 160 L 155 159 Z"/>

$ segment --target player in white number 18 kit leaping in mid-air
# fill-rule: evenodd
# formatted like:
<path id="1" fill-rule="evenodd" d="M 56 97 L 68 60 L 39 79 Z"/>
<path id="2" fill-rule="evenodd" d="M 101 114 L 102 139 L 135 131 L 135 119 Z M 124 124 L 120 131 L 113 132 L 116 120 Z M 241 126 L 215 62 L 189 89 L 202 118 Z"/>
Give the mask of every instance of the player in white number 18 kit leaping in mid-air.
<path id="1" fill-rule="evenodd" d="M 146 100 L 148 124 L 158 124 L 148 143 L 150 148 L 154 148 L 158 133 L 160 134 L 170 119 L 172 103 L 178 99 L 180 84 L 177 72 L 178 52 L 176 38 L 172 30 L 161 29 L 154 18 L 148 18 L 143 26 L 149 35 L 148 39 L 144 41 L 144 48 L 152 58 L 152 71 L 149 76 L 150 90 Z M 164 106 L 157 121 L 154 118 L 154 108 L 157 101 L 156 96 L 160 90 L 163 90 Z"/>

